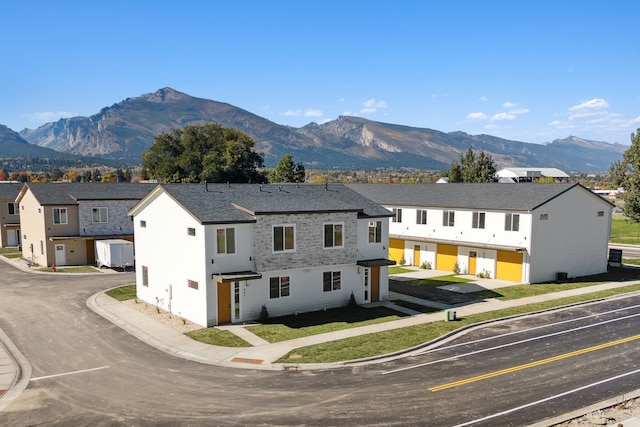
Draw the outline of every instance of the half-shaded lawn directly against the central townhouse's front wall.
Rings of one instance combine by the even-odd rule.
[[[358,326],[398,320],[407,315],[386,307],[344,307],[270,318],[248,330],[268,342],[279,342],[309,335],[335,332]]]

